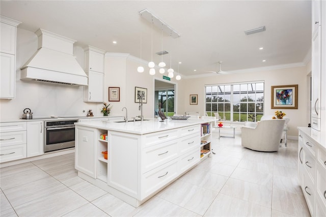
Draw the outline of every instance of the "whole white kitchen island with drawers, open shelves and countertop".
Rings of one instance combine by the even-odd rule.
[[[138,207],[211,154],[212,122],[75,123],[75,169],[79,177]]]

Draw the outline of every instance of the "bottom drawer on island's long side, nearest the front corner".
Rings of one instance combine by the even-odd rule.
[[[142,199],[154,193],[160,187],[163,187],[179,175],[177,160],[172,160],[167,164],[162,165],[154,170],[143,175]]]

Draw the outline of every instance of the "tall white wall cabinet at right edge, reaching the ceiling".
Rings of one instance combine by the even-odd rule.
[[[326,128],[326,2],[312,1],[311,126]]]

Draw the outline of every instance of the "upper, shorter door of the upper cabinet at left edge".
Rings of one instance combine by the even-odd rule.
[[[16,26],[1,22],[0,51],[15,55],[16,51]]]

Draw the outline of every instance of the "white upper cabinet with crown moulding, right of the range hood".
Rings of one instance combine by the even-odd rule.
[[[84,86],[85,102],[103,102],[104,95],[104,53],[92,46],[85,48],[85,72],[88,86]]]

